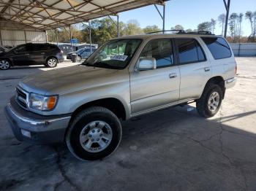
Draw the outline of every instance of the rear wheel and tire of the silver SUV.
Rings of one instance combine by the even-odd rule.
[[[222,88],[216,84],[208,84],[201,98],[196,101],[197,112],[202,117],[213,117],[222,104]]]

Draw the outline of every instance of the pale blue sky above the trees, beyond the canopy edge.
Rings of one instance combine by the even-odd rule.
[[[159,6],[162,11],[162,6]],[[230,0],[230,13],[244,13],[256,11],[256,0]],[[170,0],[165,6],[165,30],[180,24],[184,29],[196,29],[199,23],[217,20],[218,16],[225,13],[223,0]],[[140,27],[157,25],[162,28],[162,18],[154,5],[133,9],[119,13],[119,20],[127,23],[129,20],[138,20]],[[244,18],[242,23],[243,36],[249,36],[251,31],[249,20]],[[217,22],[215,34],[221,34],[222,27]]]

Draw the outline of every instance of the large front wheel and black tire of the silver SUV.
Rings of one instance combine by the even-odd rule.
[[[113,153],[121,141],[121,122],[110,110],[94,106],[80,112],[67,130],[69,151],[80,160],[99,160]]]

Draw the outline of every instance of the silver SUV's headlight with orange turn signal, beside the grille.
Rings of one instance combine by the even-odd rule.
[[[40,111],[48,111],[54,108],[57,102],[57,96],[44,96],[31,93],[29,96],[29,107]]]

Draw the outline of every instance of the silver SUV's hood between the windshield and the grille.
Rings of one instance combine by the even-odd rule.
[[[120,70],[78,65],[42,71],[24,78],[19,86],[29,93],[60,95],[113,82],[118,71]]]

